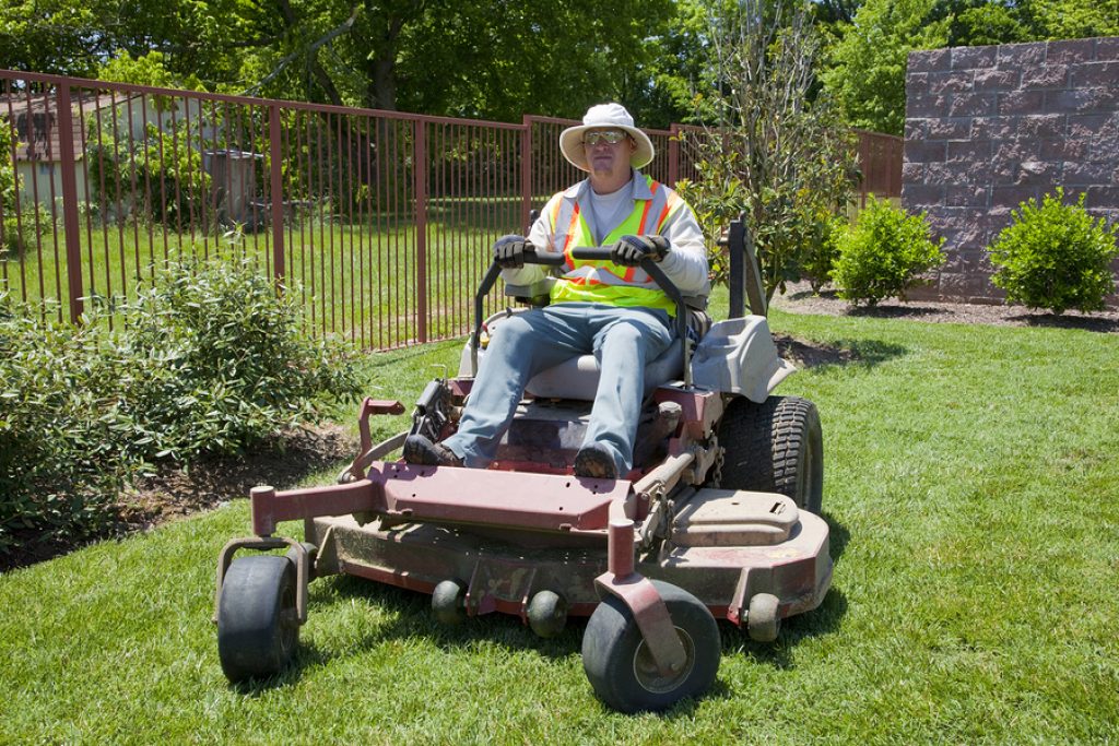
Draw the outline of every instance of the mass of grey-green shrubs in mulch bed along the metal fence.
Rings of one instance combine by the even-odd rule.
[[[358,389],[247,262],[175,265],[126,314],[110,333],[0,299],[0,553],[97,535],[144,464],[258,447]]]

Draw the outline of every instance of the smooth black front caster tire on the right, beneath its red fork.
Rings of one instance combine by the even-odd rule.
[[[599,604],[583,633],[586,678],[603,702],[622,712],[667,709],[706,691],[718,672],[722,643],[715,617],[687,591],[652,583],[668,605],[687,651],[687,663],[679,674],[665,678],[657,673],[632,612],[614,596],[608,595]]]

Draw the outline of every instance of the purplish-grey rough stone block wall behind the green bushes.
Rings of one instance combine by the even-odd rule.
[[[1000,302],[986,246],[1059,186],[1119,223],[1119,38],[914,51],[905,93],[902,205],[948,255],[911,299]]]

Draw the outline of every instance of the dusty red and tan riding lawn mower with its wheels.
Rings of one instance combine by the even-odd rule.
[[[747,248],[739,246],[753,270],[747,295],[764,311]],[[602,251],[576,249],[585,258]],[[684,299],[656,264],[643,268],[676,301],[686,339]],[[476,296],[464,356],[471,372],[482,301],[499,273],[492,265]],[[472,470],[384,461],[410,433],[452,433],[470,376],[432,381],[412,428],[377,444],[369,418],[404,407],[366,399],[361,453],[338,483],[254,489],[254,536],[219,555],[214,617],[227,678],[280,672],[307,620],[308,584],[346,573],[429,593],[446,623],[500,612],[552,636],[568,616],[590,616],[584,670],[615,709],[658,710],[702,693],[718,669],[716,617],[771,641],[782,618],[821,603],[831,578],[828,527],[818,516],[819,417],[806,399],[770,396],[791,367],[777,357],[763,315],[740,317],[715,324],[694,352],[678,346],[684,379],[649,397],[636,468],[624,479],[572,475],[585,402],[529,397],[495,463]],[[275,537],[280,522],[298,519],[304,541]],[[286,556],[234,558],[282,548]]]

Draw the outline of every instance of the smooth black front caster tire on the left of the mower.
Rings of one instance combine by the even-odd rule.
[[[299,644],[295,565],[286,557],[241,557],[222,584],[217,652],[231,682],[264,679],[288,665]]]

